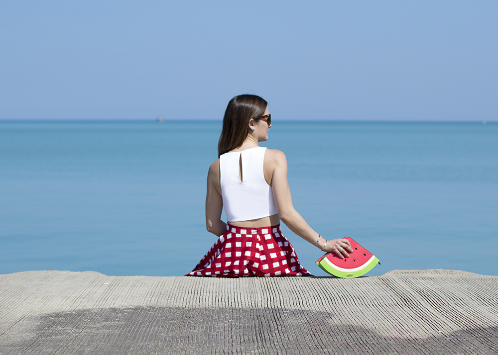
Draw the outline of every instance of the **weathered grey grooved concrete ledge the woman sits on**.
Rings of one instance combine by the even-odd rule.
[[[498,276],[6,274],[0,354],[498,354]]]

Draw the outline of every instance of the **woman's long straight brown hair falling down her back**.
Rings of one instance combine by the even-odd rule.
[[[244,143],[249,134],[250,119],[262,116],[267,105],[268,102],[256,95],[238,95],[230,100],[218,141],[218,158]]]

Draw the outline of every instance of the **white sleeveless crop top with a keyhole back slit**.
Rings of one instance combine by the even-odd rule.
[[[229,222],[249,221],[278,213],[271,186],[263,173],[265,147],[220,156],[223,207]],[[239,160],[242,158],[242,181]]]

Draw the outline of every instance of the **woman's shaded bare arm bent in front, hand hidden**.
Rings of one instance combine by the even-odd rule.
[[[227,230],[227,224],[221,220],[223,198],[220,186],[220,160],[209,167],[206,191],[206,229],[216,236]]]

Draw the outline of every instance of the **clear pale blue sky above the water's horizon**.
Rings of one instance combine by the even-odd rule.
[[[496,0],[4,0],[0,45],[0,119],[498,119]]]

